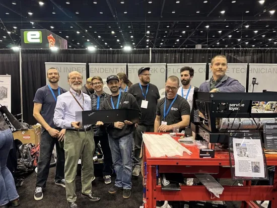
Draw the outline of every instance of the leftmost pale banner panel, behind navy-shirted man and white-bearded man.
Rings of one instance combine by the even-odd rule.
[[[73,71],[81,73],[83,76],[83,85],[86,84],[87,74],[86,74],[86,63],[57,63],[57,62],[45,62],[45,75],[46,84],[48,84],[47,71],[49,68],[54,67],[59,72],[59,82],[58,85],[66,90],[70,89],[67,82],[67,76]]]

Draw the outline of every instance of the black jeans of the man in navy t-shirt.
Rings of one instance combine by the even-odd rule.
[[[61,179],[64,179],[64,150],[60,148],[58,139],[53,138],[44,129],[41,133],[36,186],[46,186],[54,145],[56,145],[57,152],[55,182],[60,182]]]

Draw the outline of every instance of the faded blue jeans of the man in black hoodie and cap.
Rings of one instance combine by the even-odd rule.
[[[132,141],[133,133],[129,133],[119,139],[109,136],[109,144],[112,153],[113,167],[116,173],[115,185],[124,189],[131,189],[132,183]]]

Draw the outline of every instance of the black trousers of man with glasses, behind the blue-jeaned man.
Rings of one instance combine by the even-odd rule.
[[[101,149],[104,155],[104,164],[103,164],[103,176],[111,175],[112,173],[112,155],[111,150],[109,146],[109,139],[108,135],[102,135],[102,136],[94,136],[94,143],[95,146],[100,141]]]

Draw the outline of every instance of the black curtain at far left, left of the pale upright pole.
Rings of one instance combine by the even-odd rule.
[[[0,49],[0,75],[11,75],[12,85],[12,114],[20,114],[20,73],[19,73],[19,52]],[[1,101],[0,101],[1,104]],[[17,117],[21,118],[21,117]]]

